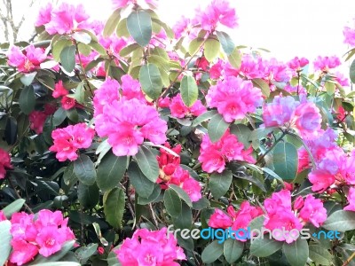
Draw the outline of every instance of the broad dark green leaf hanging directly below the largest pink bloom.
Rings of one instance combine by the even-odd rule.
[[[115,156],[114,153],[106,153],[98,167],[96,182],[103,192],[113,189],[120,183],[127,168],[127,156]]]

